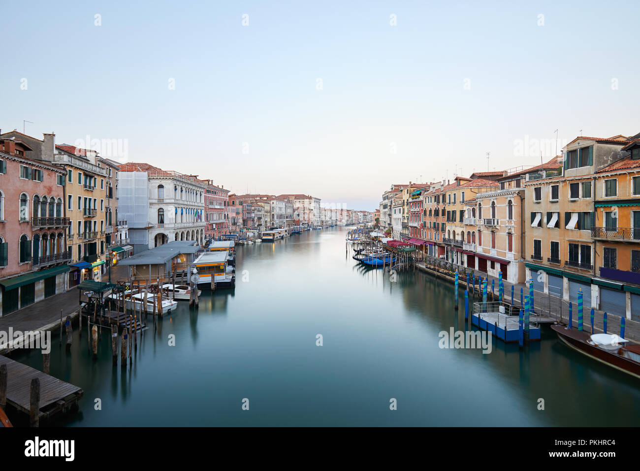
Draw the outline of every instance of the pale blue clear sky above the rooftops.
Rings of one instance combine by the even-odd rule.
[[[640,132],[639,13],[637,1],[4,3],[0,129],[240,194],[375,210],[392,183]]]

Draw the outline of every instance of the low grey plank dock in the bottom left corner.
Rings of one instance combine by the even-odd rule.
[[[0,356],[1,365],[6,365],[7,368],[7,404],[27,415],[31,410],[31,380],[36,378],[40,381],[39,418],[41,420],[48,420],[52,415],[77,407],[77,402],[83,397],[84,392],[81,388],[6,356]]]

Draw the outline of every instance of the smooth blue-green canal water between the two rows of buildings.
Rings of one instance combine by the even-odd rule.
[[[74,333],[70,353],[54,342],[51,374],[84,390],[79,412],[56,425],[640,423],[637,380],[572,351],[548,328],[522,351],[499,340],[488,354],[441,349],[441,331],[465,329],[452,285],[417,271],[383,283],[382,270],[346,252],[344,228],[239,247],[236,276],[235,290],[204,292],[197,311],[180,302],[156,332],[145,331],[127,370],[112,367],[106,329],[97,361],[86,333]],[[14,358],[42,368],[39,352]]]

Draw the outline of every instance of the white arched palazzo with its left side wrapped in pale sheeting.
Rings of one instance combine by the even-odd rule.
[[[118,205],[137,254],[170,241],[204,244],[207,184],[193,175],[148,163],[125,163],[118,173]]]

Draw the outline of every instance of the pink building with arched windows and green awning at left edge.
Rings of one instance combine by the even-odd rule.
[[[20,133],[0,137],[0,316],[68,286],[66,172],[42,160],[39,142],[32,147]]]

